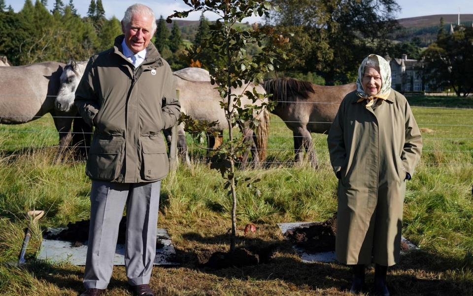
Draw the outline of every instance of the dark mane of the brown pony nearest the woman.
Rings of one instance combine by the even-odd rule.
[[[265,81],[263,84],[267,93],[272,93],[271,101],[276,101],[282,106],[286,105],[289,98],[300,96],[303,99],[309,97],[309,92],[314,93],[312,84],[293,78],[276,78]]]

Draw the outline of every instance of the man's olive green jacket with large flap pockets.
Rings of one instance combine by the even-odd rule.
[[[90,58],[75,92],[80,115],[95,127],[86,174],[120,183],[157,181],[169,171],[161,131],[180,115],[174,78],[152,43],[135,69],[122,54],[123,38]]]

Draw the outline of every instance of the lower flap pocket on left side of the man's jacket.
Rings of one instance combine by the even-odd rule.
[[[109,181],[117,178],[122,146],[122,139],[96,139],[89,150],[87,176]]]

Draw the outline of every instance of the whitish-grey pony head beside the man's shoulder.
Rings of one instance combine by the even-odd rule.
[[[62,112],[68,112],[74,105],[75,90],[84,74],[87,62],[75,62],[70,60],[64,67],[59,78],[60,86],[55,101],[55,108]]]

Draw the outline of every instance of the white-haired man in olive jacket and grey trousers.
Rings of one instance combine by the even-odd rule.
[[[150,43],[153,11],[128,7],[122,30],[112,48],[89,60],[75,93],[81,116],[95,127],[86,166],[92,189],[82,296],[107,288],[125,205],[128,283],[135,295],[153,295],[160,180],[169,169],[161,132],[176,123],[180,105],[169,64]]]

